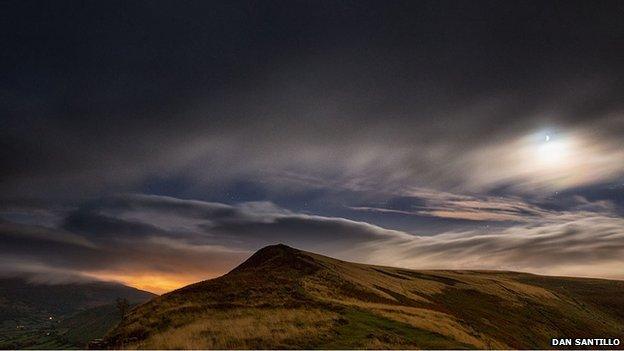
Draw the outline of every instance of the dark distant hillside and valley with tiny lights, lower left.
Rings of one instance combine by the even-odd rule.
[[[121,320],[117,298],[138,304],[154,296],[109,282],[45,285],[0,279],[0,348],[84,348]]]

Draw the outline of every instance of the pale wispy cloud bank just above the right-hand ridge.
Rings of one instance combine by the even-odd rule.
[[[589,213],[498,233],[444,233],[384,246],[369,245],[369,259],[413,268],[502,269],[551,275],[624,279],[624,220]]]

